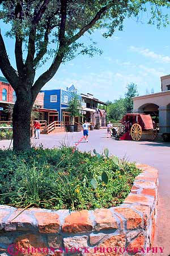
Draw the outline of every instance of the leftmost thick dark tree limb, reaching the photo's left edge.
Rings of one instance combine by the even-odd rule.
[[[3,75],[6,77],[11,86],[16,89],[19,85],[19,77],[16,74],[16,70],[11,66],[10,61],[7,56],[5,43],[3,41],[3,37],[1,35],[0,29],[0,69]]]

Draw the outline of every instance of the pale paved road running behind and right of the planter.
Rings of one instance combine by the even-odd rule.
[[[82,132],[57,133],[41,135],[39,140],[32,139],[33,145],[43,144],[46,148],[67,145],[73,146],[82,137]],[[7,147],[10,141],[0,141],[0,148]],[[108,148],[111,154],[126,157],[130,161],[146,163],[159,170],[159,211],[156,227],[155,246],[164,247],[163,256],[170,254],[170,143],[150,141],[115,141],[106,138],[106,130],[100,129],[90,132],[89,142],[80,142],[79,150],[103,152]],[[156,254],[158,255],[158,254]]]

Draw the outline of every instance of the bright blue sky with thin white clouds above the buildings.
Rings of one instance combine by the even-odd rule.
[[[0,23],[2,25],[2,23]],[[5,26],[1,26],[2,33]],[[91,37],[103,51],[101,56],[78,56],[60,66],[56,75],[43,89],[66,88],[73,83],[79,93],[92,93],[100,100],[114,100],[124,96],[126,85],[137,83],[139,95],[146,90],[160,91],[160,76],[170,73],[170,26],[160,28],[128,19],[123,31],[116,31],[104,39],[104,30]],[[83,37],[91,43],[88,35]],[[15,65],[14,43],[5,39],[12,65]],[[37,76],[48,68],[37,70]],[[2,73],[1,73],[2,75]]]

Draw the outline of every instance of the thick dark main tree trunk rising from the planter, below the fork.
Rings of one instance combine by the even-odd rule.
[[[31,91],[19,91],[13,110],[13,149],[24,151],[31,149],[30,123],[33,100]]]

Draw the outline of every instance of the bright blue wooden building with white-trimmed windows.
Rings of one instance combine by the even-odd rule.
[[[52,123],[53,121],[70,121],[70,115],[69,112],[67,112],[67,108],[73,93],[77,94],[75,86],[70,85],[66,90],[43,90],[42,92],[44,93],[44,108],[57,111],[55,114],[49,114],[49,123]]]

